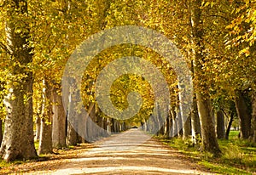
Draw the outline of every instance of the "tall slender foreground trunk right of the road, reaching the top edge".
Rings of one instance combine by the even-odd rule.
[[[203,19],[201,16],[201,0],[191,1],[191,20],[192,25],[192,40],[195,45],[195,84],[197,88],[196,99],[199,117],[201,121],[201,137],[202,150],[212,152],[214,155],[219,155],[221,151],[218,147],[218,140],[215,134],[215,127],[212,121],[211,100],[209,93],[209,85],[207,85],[207,75],[204,72],[203,65],[205,61],[204,43],[203,43]]]

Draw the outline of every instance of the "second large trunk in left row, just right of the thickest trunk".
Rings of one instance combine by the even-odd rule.
[[[38,154],[52,153],[51,121],[52,121],[52,90],[49,83],[43,82],[43,105],[41,118],[41,132],[39,139]]]

